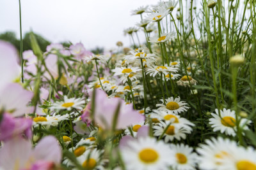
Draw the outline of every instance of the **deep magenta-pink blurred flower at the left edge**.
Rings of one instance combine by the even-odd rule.
[[[13,118],[12,115],[4,113],[0,122],[0,141],[22,136],[22,134],[25,134],[27,138],[31,138],[32,123],[33,120],[30,118]]]

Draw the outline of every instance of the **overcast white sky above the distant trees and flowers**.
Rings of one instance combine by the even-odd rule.
[[[124,29],[140,21],[131,10],[157,0],[21,0],[22,32],[34,32],[54,43],[82,42],[87,49],[129,46]],[[19,0],[0,0],[0,33],[14,31],[19,37]],[[141,32],[141,41],[144,34]]]

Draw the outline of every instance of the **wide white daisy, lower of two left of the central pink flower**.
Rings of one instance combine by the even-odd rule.
[[[56,115],[54,113],[52,116],[47,115],[47,117],[35,117],[33,118],[33,127],[38,127],[38,125],[45,125],[47,129],[51,126],[57,126],[62,120],[68,120],[69,115]]]

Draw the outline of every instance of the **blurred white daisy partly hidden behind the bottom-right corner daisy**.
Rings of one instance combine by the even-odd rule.
[[[199,144],[200,148],[196,152],[200,154],[198,157],[198,165],[200,169],[212,170],[220,169],[222,160],[232,157],[231,151],[237,150],[235,141],[223,138],[206,139],[206,144]]]

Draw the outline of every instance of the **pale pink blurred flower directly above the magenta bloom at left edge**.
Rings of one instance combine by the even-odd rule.
[[[23,89],[18,83],[10,83],[0,91],[0,110],[19,117],[24,113],[31,113],[32,107],[27,106],[33,97],[33,92]]]

